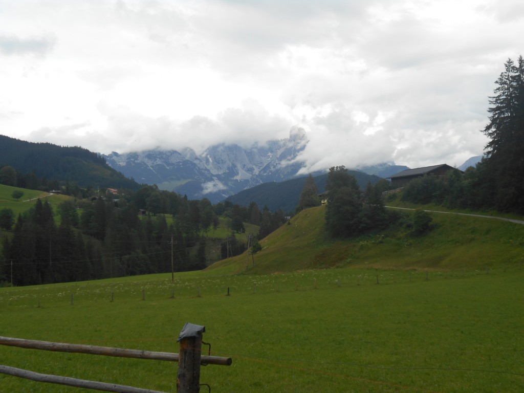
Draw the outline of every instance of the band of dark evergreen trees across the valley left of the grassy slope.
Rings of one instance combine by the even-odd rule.
[[[154,185],[125,198],[64,201],[57,210],[39,199],[18,217],[8,209],[0,211],[0,226],[12,232],[3,238],[0,281],[13,279],[23,286],[169,272],[172,261],[175,271],[199,270],[210,258],[219,214],[231,224],[235,217],[255,225],[267,221],[260,226],[266,231],[283,223],[281,212],[260,212],[256,203],[249,208],[230,202],[212,205],[208,199],[190,201]],[[172,216],[169,224],[166,215]],[[216,240],[214,259],[245,251],[246,244],[235,236],[242,228],[232,226],[226,239]]]

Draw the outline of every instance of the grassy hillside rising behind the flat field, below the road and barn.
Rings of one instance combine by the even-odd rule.
[[[424,236],[395,230],[334,241],[324,234],[324,211],[323,206],[307,209],[293,217],[290,225],[263,239],[260,243],[264,249],[254,256],[254,266],[249,259],[248,271],[268,273],[328,267],[460,270],[522,263],[524,225],[431,213],[432,231]],[[246,270],[247,259],[244,254],[221,261],[208,270],[242,272]]]

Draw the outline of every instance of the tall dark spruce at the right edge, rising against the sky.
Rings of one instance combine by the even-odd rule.
[[[495,208],[524,213],[524,59],[508,59],[489,97],[489,123],[483,133],[487,178]]]

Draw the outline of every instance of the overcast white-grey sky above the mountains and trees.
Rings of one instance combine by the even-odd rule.
[[[461,165],[521,0],[0,0],[0,134],[108,154],[303,127],[311,170]]]

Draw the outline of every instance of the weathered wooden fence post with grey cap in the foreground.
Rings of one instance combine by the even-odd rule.
[[[198,393],[200,390],[200,358],[205,326],[186,323],[180,332],[177,392]]]

